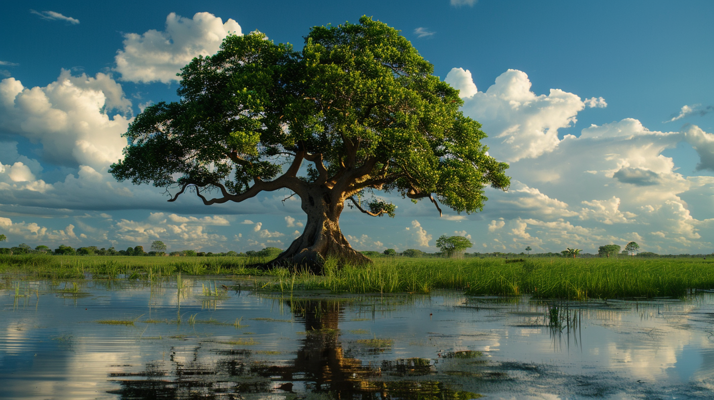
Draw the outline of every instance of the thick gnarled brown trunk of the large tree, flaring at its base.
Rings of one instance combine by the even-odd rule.
[[[345,206],[341,194],[316,187],[311,188],[301,201],[303,211],[308,214],[303,234],[266,266],[307,268],[313,274],[322,274],[328,257],[350,264],[371,264],[370,259],[352,249],[340,230],[340,214]]]

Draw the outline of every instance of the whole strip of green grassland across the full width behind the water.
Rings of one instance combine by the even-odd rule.
[[[371,266],[338,267],[325,275],[260,271],[248,257],[0,256],[0,273],[49,279],[156,279],[174,274],[270,275],[256,289],[348,293],[427,293],[455,289],[473,295],[614,299],[685,296],[714,289],[714,262],[702,259],[375,259]]]

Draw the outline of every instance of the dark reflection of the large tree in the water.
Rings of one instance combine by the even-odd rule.
[[[379,366],[344,356],[338,321],[343,306],[336,300],[288,300],[305,323],[306,337],[290,364],[253,360],[248,350],[205,349],[198,344],[163,362],[146,364],[139,373],[111,374],[121,385],[111,393],[121,399],[243,399],[261,394],[286,399],[324,394],[332,399],[473,399],[480,397],[436,381],[428,359],[383,361]],[[201,353],[208,352],[208,356]],[[186,357],[188,353],[188,357]],[[211,361],[204,361],[205,359]]]

